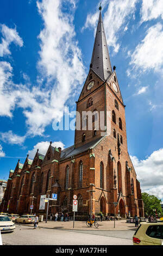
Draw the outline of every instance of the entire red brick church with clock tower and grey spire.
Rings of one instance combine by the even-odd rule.
[[[90,70],[76,102],[74,145],[61,149],[49,143],[46,155],[38,149],[33,160],[28,155],[23,164],[18,160],[15,170],[10,170],[0,211],[27,214],[33,201],[33,212],[46,215],[44,198],[56,193],[58,199],[49,202],[49,213],[71,214],[76,194],[76,215],[90,214],[91,202],[96,215],[100,211],[104,215],[116,211],[122,217],[144,215],[140,182],[127,149],[125,106],[99,9]],[[92,129],[87,113],[92,113]],[[104,128],[99,127],[102,121]]]

